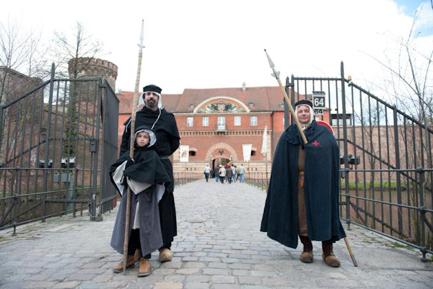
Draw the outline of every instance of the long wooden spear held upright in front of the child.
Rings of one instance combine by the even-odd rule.
[[[143,57],[143,48],[144,48],[143,39],[144,39],[144,20],[142,20],[142,30],[140,32],[140,44],[138,44],[137,77],[135,78],[134,98],[133,98],[132,113],[131,113],[131,138],[129,139],[129,158],[131,159],[134,158],[135,116],[137,114],[138,86],[140,85],[140,73],[142,71],[142,57]],[[123,243],[123,275],[126,275],[126,260],[128,259],[130,214],[131,214],[131,188],[128,186],[126,192],[125,238]]]

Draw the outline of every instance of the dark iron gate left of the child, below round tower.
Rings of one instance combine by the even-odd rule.
[[[101,172],[117,156],[117,116],[107,81],[56,79],[54,65],[49,81],[2,105],[0,229],[67,213],[96,220],[113,208]]]

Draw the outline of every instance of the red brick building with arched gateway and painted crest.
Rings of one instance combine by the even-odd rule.
[[[133,92],[117,96],[120,143],[122,124],[131,115]],[[181,161],[180,149],[173,154],[175,172],[201,173],[206,164],[212,169],[232,161],[243,164],[247,171],[270,174],[276,144],[285,128],[280,87],[184,89],[182,94],[163,94],[162,105],[175,115],[181,146],[188,146],[187,162]],[[329,120],[329,111],[324,113]],[[265,126],[267,153],[262,154]],[[244,160],[243,144],[252,144],[249,162]]]

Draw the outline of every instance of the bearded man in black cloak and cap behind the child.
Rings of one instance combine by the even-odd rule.
[[[159,248],[159,261],[170,261],[172,254],[170,252],[171,242],[177,235],[176,208],[173,191],[175,189],[173,166],[168,159],[179,147],[179,130],[175,116],[166,109],[161,107],[162,89],[156,85],[146,85],[143,87],[142,100],[144,107],[137,111],[135,118],[135,127],[150,127],[157,135],[155,151],[161,160],[166,172],[170,176],[171,182],[166,183],[164,195],[159,201],[159,220],[161,222],[163,246]],[[122,135],[120,144],[120,155],[129,150],[129,141],[131,136],[131,118],[124,122],[125,130]],[[144,256],[150,258],[151,256]],[[137,259],[137,258],[135,258]]]

